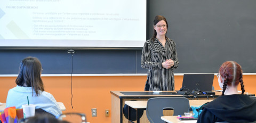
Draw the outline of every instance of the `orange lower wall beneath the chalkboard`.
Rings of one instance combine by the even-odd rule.
[[[6,102],[7,92],[16,86],[16,77],[0,77],[0,102]],[[71,77],[42,77],[45,91],[51,93],[57,102],[63,102],[66,111],[85,113],[89,122],[111,122],[110,91],[143,91],[146,76],[99,76],[73,77],[73,107],[71,108]],[[182,85],[183,76],[175,76],[175,89]],[[255,94],[256,75],[244,75],[245,91]],[[213,86],[220,89],[217,77]],[[97,117],[91,116],[91,109],[97,108]],[[109,109],[109,117],[105,116]]]

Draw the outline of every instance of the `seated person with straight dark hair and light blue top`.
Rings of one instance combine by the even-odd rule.
[[[23,104],[35,104],[36,109],[44,110],[58,116],[60,107],[52,94],[44,91],[41,79],[41,62],[34,57],[27,57],[20,63],[19,75],[16,79],[17,86],[10,89],[6,99],[6,108],[15,106],[21,109]]]

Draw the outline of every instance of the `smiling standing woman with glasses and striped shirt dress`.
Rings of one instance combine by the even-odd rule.
[[[179,64],[175,43],[166,37],[168,23],[162,15],[155,17],[153,26],[153,37],[141,55],[141,67],[148,69],[145,91],[174,91],[173,69]]]

